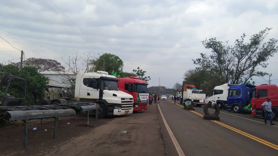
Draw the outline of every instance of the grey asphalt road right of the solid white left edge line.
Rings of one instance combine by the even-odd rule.
[[[203,108],[183,110],[170,101],[159,104],[162,114],[186,156],[261,156],[278,154],[278,127],[263,121],[220,113],[219,121],[202,118]]]

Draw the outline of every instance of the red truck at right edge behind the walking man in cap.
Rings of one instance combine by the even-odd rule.
[[[252,105],[251,112],[254,116],[264,116],[264,111],[261,104],[266,101],[266,98],[271,99],[272,104],[272,119],[275,120],[278,115],[278,86],[262,84],[252,89]]]

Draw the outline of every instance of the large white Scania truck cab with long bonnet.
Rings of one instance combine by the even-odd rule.
[[[128,115],[133,112],[133,97],[118,88],[119,79],[106,71],[78,74],[74,97],[80,102],[97,103],[100,117]]]

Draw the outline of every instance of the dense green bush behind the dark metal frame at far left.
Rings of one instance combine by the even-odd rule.
[[[36,105],[37,100],[44,100],[44,92],[47,88],[47,78],[38,72],[33,66],[20,68],[16,65],[2,65],[0,71],[14,76],[25,78],[27,81],[25,105]],[[0,77],[2,80],[3,76]],[[9,94],[17,98],[24,95],[24,81],[13,79],[9,87]]]

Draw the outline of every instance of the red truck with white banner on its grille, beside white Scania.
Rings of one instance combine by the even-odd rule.
[[[147,93],[148,83],[136,76],[118,79],[119,90],[133,96],[133,111],[147,110],[149,101],[149,94]]]

